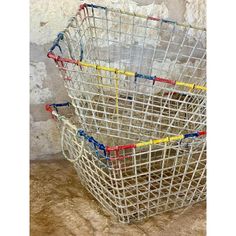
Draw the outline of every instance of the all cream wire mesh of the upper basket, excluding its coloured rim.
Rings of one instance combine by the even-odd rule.
[[[206,85],[204,30],[86,7],[64,35],[63,56],[83,54],[97,66]],[[83,129],[108,145],[205,127],[205,91],[71,63],[59,69]]]

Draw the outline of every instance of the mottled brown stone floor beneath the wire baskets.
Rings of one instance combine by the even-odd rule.
[[[69,162],[32,161],[30,235],[202,236],[206,235],[206,205],[199,203],[143,222],[122,224],[82,187]]]

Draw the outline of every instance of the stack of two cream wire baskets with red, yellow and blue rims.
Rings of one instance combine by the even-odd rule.
[[[74,126],[57,104],[47,107],[63,153],[121,222],[205,199],[205,37],[168,19],[82,4],[48,52],[79,119]]]

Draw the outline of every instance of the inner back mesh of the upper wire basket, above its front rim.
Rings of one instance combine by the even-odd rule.
[[[151,19],[109,8],[86,7],[66,28],[65,46],[73,51],[72,58],[79,58],[78,42],[83,41],[84,58],[95,64],[102,62],[108,67],[161,77],[175,74],[182,81],[194,79],[204,83],[206,31]]]

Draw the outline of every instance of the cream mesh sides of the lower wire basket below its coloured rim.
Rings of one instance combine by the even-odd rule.
[[[205,138],[133,148],[129,158],[111,161],[82,140],[69,120],[60,117],[59,125],[65,157],[119,221],[130,223],[205,200]]]

